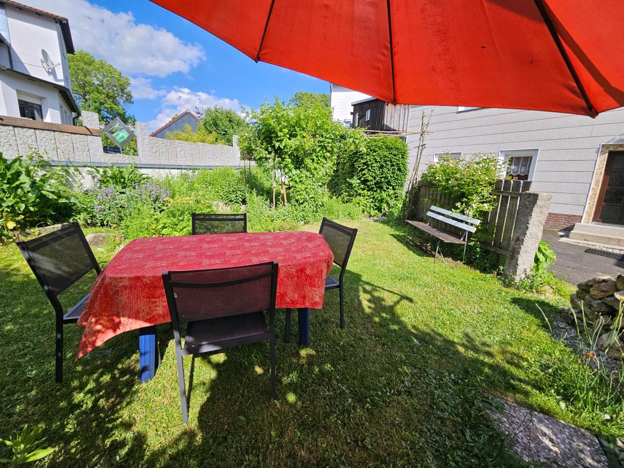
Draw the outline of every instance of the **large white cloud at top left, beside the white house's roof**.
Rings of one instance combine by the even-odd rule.
[[[66,16],[76,49],[110,62],[124,74],[165,77],[188,73],[206,58],[199,44],[184,42],[162,27],[137,24],[132,12],[114,13],[87,0],[26,3]]]

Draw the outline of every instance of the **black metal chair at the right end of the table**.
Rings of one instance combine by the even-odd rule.
[[[344,271],[347,268],[349,261],[349,255],[351,255],[351,248],[355,242],[355,236],[358,234],[356,228],[349,228],[333,221],[323,218],[321,222],[321,229],[318,232],[322,235],[325,241],[328,243],[329,248],[334,253],[334,263],[340,267],[340,276],[338,280],[333,276],[325,278],[325,291],[340,290],[340,328],[344,328]],[[290,319],[291,310],[286,310],[286,331],[284,335],[284,341],[288,343],[290,341]]]

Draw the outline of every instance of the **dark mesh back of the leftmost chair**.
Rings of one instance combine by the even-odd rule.
[[[46,293],[58,295],[82,276],[100,267],[78,223],[49,234],[17,242],[32,272]]]

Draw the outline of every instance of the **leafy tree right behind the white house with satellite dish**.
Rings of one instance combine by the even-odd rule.
[[[130,79],[108,62],[95,59],[85,51],[69,56],[72,93],[80,110],[97,112],[102,124],[115,117],[133,125],[134,115],[127,106],[132,104]]]

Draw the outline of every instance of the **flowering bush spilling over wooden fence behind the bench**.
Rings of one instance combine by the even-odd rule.
[[[494,208],[494,184],[502,176],[504,163],[493,153],[478,153],[470,158],[442,156],[430,162],[421,180],[456,202],[456,211],[478,217]]]

